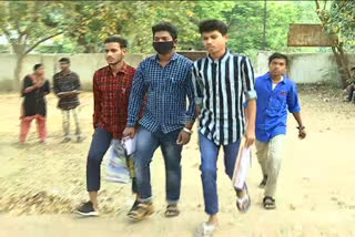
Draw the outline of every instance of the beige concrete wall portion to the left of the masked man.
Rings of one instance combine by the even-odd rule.
[[[106,65],[106,61],[102,53],[91,54],[29,54],[26,56],[21,70],[22,80],[27,74],[32,72],[36,63],[42,63],[45,69],[45,75],[52,82],[52,76],[59,71],[58,61],[69,56],[71,60],[71,70],[80,75],[81,83],[84,90],[91,89],[93,73]],[[144,54],[129,54],[125,56],[125,62],[136,68],[145,58]],[[0,54],[0,91],[9,91],[13,89],[13,71],[16,68],[14,54]]]

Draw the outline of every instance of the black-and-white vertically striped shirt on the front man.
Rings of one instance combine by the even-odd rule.
[[[250,59],[226,53],[194,62],[192,81],[195,103],[201,106],[202,135],[216,145],[239,141],[245,133],[243,102],[256,99],[254,71]]]

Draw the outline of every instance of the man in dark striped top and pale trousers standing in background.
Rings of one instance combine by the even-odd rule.
[[[62,58],[59,60],[61,71],[53,75],[53,91],[59,97],[58,109],[62,111],[63,117],[63,131],[64,138],[63,143],[71,140],[70,137],[70,113],[72,114],[75,122],[75,136],[77,142],[82,142],[83,136],[81,135],[80,123],[78,117],[79,93],[80,93],[80,80],[75,72],[70,70],[70,59]]]

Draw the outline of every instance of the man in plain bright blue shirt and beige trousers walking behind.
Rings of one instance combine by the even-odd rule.
[[[288,59],[281,53],[268,58],[270,71],[255,80],[256,155],[263,172],[261,188],[265,188],[263,206],[274,209],[278,171],[284,147],[287,111],[298,123],[298,137],[306,137],[301,118],[301,105],[296,83],[285,73]]]

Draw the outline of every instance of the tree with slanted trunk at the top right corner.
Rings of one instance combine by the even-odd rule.
[[[327,6],[329,2],[331,7]],[[345,89],[351,79],[345,45],[354,44],[355,2],[349,0],[325,0],[322,6],[320,0],[315,0],[315,3],[323,29],[335,39],[332,51],[341,75],[342,86]]]

